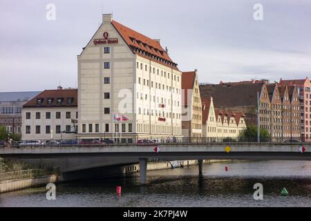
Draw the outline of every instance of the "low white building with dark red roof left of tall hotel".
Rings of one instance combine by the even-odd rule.
[[[44,90],[23,105],[22,140],[75,139],[77,89]]]

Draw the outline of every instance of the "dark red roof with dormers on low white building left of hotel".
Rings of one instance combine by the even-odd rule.
[[[41,104],[38,104],[38,99],[41,99]],[[48,104],[48,99],[51,103]],[[57,104],[57,99],[62,99],[61,104]],[[72,99],[71,103],[67,103],[67,99]],[[30,99],[29,102],[23,105],[23,108],[40,108],[40,107],[76,107],[77,106],[77,89],[57,89],[44,90],[36,97]]]

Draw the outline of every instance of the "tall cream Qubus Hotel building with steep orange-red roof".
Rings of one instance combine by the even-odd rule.
[[[182,135],[182,73],[160,40],[103,15],[77,63],[79,138],[133,142]]]

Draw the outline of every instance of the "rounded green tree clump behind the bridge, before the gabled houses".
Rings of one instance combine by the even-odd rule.
[[[270,140],[270,134],[265,128],[260,128],[261,142],[267,142]],[[256,142],[257,140],[257,126],[247,125],[246,129],[238,136],[240,141]]]

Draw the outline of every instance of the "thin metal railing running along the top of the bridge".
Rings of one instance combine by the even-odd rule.
[[[189,145],[189,144],[258,144],[256,137],[145,137],[88,140],[31,140],[14,142],[11,145],[0,144],[0,148],[29,147],[77,147],[77,146],[151,146],[151,145]],[[261,138],[260,144],[304,144],[300,137]]]

